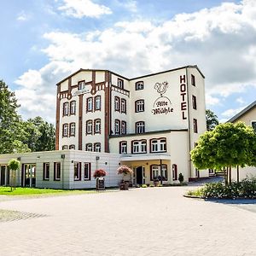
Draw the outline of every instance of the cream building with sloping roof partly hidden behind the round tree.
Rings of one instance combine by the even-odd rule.
[[[244,122],[246,125],[252,126],[256,132],[256,101],[247,106],[247,108],[242,109],[240,113],[237,113],[228,122]],[[237,180],[237,175],[239,176],[240,180],[247,176],[256,177],[256,166],[246,166],[244,168],[240,168],[238,173],[236,168],[232,168],[232,179]]]

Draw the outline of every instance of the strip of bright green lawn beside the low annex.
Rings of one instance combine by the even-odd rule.
[[[41,195],[41,194],[92,194],[96,193],[96,190],[75,189],[32,189],[32,188],[16,188],[11,191],[10,187],[0,187],[0,195]]]

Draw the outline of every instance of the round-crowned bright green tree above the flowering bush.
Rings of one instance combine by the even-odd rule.
[[[220,124],[213,131],[206,131],[190,154],[196,168],[223,169],[225,173],[232,166],[256,165],[255,152],[256,134],[253,128],[239,122]],[[227,183],[227,176],[225,181]]]

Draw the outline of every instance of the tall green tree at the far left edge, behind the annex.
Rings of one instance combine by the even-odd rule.
[[[20,129],[21,119],[17,113],[20,106],[15,93],[9,90],[3,80],[0,80],[0,106],[0,154],[19,152],[19,148],[24,149],[24,134]],[[17,144],[20,146],[17,147]]]

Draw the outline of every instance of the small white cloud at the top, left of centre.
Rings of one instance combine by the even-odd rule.
[[[63,0],[63,2],[64,5],[61,5],[59,10],[74,18],[99,18],[101,15],[112,14],[107,6],[93,3],[91,0]]]

